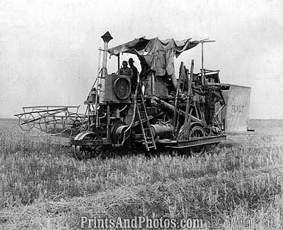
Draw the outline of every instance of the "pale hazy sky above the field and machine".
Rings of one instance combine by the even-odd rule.
[[[0,19],[0,117],[37,105],[83,112],[100,36],[110,31],[110,47],[142,36],[216,40],[205,44],[205,68],[220,70],[223,83],[252,87],[250,119],[283,119],[282,1],[1,0]],[[199,70],[200,45],[176,69],[191,59]],[[108,66],[117,71],[114,57]]]

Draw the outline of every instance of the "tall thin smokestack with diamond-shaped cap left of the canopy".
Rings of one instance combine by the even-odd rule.
[[[103,48],[103,62],[102,62],[102,77],[100,79],[100,102],[103,102],[105,99],[105,76],[107,75],[107,52],[108,52],[108,43],[112,40],[112,35],[107,31],[104,35],[101,36],[104,41]]]

